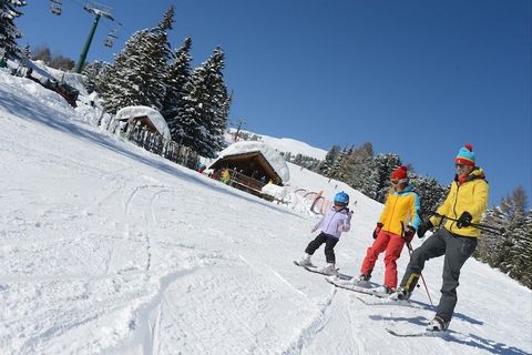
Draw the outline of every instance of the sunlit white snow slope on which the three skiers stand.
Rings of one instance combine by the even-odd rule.
[[[385,327],[420,331],[433,316],[427,295],[366,305],[295,266],[316,217],[116,140],[32,81],[0,70],[0,83],[1,354],[532,352],[531,291],[498,271],[467,262],[456,333],[393,337]],[[290,175],[357,200],[336,247],[356,274],[380,205],[306,170]],[[432,300],[441,270],[433,260],[424,271]],[[380,261],[376,282],[382,271]]]

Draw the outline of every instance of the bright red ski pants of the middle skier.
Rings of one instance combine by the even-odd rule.
[[[368,247],[366,257],[362,262],[360,272],[366,275],[371,275],[375,263],[379,257],[379,254],[386,251],[385,254],[385,285],[390,288],[397,287],[397,260],[401,256],[402,247],[405,246],[405,240],[397,234],[380,231],[379,235],[375,240],[374,244]]]

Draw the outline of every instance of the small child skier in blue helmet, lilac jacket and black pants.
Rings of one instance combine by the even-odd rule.
[[[308,243],[304,256],[297,261],[301,266],[314,266],[310,262],[310,256],[316,250],[325,243],[325,257],[327,265],[321,267],[319,272],[328,275],[336,274],[335,267],[335,245],[338,243],[341,232],[348,232],[351,227],[352,212],[349,211],[349,195],[345,192],[338,192],[335,195],[334,205],[327,211],[325,216],[313,229],[313,233],[318,229],[320,233],[314,241]]]

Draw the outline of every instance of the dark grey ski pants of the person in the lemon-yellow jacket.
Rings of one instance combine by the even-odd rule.
[[[419,276],[416,277],[416,275],[421,274],[426,261],[444,255],[443,284],[441,285],[441,298],[438,304],[437,315],[446,322],[451,322],[458,300],[457,287],[459,285],[460,268],[462,268],[469,256],[473,254],[477,243],[475,237],[452,234],[441,227],[412,252],[401,281],[401,286],[406,287],[409,281],[417,283]],[[408,288],[413,290],[413,285],[409,285]]]

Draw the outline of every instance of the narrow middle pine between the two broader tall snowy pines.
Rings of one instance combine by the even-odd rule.
[[[183,110],[183,98],[186,95],[185,84],[191,79],[191,48],[192,38],[187,37],[183,45],[174,53],[174,60],[168,68],[166,78],[166,95],[163,101],[162,114],[168,123],[170,132],[175,136],[174,132],[178,130],[178,114]]]

